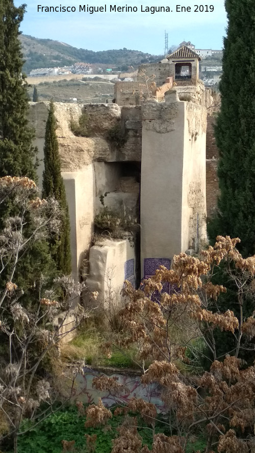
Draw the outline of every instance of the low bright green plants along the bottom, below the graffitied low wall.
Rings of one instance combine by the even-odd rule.
[[[131,416],[137,414],[130,414]],[[156,422],[156,433],[164,433],[170,436],[170,432],[160,422],[159,416]],[[75,453],[88,453],[86,448],[85,434],[96,434],[95,453],[110,453],[112,450],[112,440],[117,437],[117,428],[123,421],[123,416],[113,415],[109,421],[109,428],[98,426],[97,428],[85,428],[86,416],[78,413],[77,407],[68,405],[55,414],[43,420],[37,427],[33,428],[30,420],[24,420],[22,429],[32,428],[32,431],[20,436],[18,440],[19,453],[61,453],[62,440],[75,441]],[[142,437],[142,443],[151,448],[151,431],[146,429],[144,421],[138,416],[138,433]],[[176,434],[176,433],[173,433]],[[206,442],[201,435],[193,436],[188,443],[186,453],[194,453],[198,449],[201,453],[205,451]]]

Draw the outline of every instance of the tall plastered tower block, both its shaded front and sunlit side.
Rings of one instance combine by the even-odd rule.
[[[145,102],[142,115],[143,270],[145,258],[172,259],[192,247],[197,231],[197,243],[205,241],[207,120],[206,108],[179,101],[174,90],[165,103]]]

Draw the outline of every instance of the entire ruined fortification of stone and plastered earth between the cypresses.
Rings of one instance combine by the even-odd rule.
[[[107,303],[107,281],[120,292],[124,279],[140,283],[174,254],[198,250],[206,241],[206,130],[210,93],[200,81],[172,86],[170,65],[142,65],[155,73],[154,96],[136,105],[140,82],[125,82],[127,105],[55,103],[57,137],[71,226],[72,275],[86,279],[91,293]],[[140,70],[140,69],[139,69]],[[150,72],[149,72],[150,71]],[[138,72],[139,74],[139,72]],[[129,85],[131,84],[131,85]],[[122,83],[116,84],[116,90]],[[117,92],[116,91],[116,92]],[[158,92],[158,96],[157,96]],[[121,101],[122,99],[122,101]],[[31,103],[30,121],[43,159],[48,102]],[[86,114],[88,137],[70,128]],[[41,184],[42,166],[39,169]],[[95,216],[107,209],[131,213],[140,239],[96,237]],[[140,242],[139,242],[140,241]],[[152,272],[152,271],[151,271]],[[136,283],[135,283],[136,282]]]

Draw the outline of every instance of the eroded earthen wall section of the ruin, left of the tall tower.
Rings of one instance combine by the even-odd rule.
[[[31,102],[30,121],[36,131],[35,144],[40,159],[39,184],[42,183],[43,146],[48,102]],[[76,137],[70,129],[70,121],[78,121],[82,113],[88,116],[90,137]],[[113,207],[124,201],[127,206],[136,206],[139,190],[127,192],[121,184],[112,187],[116,167],[108,163],[141,161],[141,108],[123,108],[117,104],[69,104],[55,103],[57,136],[62,162],[71,227],[72,275],[80,278],[80,267],[84,256],[88,256],[94,217],[100,207],[99,196],[109,195]],[[125,143],[118,147],[108,138],[108,131],[121,125]],[[96,165],[100,164],[100,165]],[[108,165],[108,166],[107,166]],[[123,164],[124,165],[124,164]],[[112,176],[111,176],[111,172]],[[119,174],[123,170],[119,170]],[[125,175],[124,175],[125,176]],[[98,189],[98,180],[105,181]],[[109,185],[109,183],[111,184]],[[122,181],[122,185],[123,185]],[[133,183],[136,187],[136,181]],[[102,206],[101,206],[102,207]],[[122,271],[121,271],[122,272]],[[124,275],[124,270],[123,270]]]

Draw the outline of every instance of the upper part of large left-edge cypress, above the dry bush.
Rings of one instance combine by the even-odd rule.
[[[22,75],[19,25],[25,5],[0,2],[0,177],[28,176],[36,180],[33,132],[28,125],[28,92]]]

